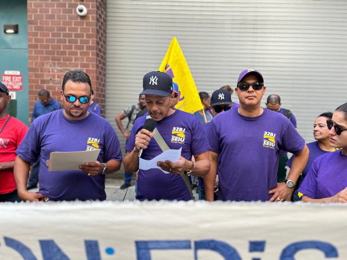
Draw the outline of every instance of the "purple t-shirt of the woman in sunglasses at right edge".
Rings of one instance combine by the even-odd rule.
[[[347,156],[342,150],[317,157],[298,192],[311,199],[329,198],[347,187]]]

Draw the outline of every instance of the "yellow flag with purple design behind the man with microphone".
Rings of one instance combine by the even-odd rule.
[[[193,77],[176,37],[171,41],[159,71],[169,74],[173,82],[178,84],[179,96],[175,108],[188,113],[203,109]]]

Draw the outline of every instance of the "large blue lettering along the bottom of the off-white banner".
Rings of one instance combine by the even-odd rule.
[[[4,237],[5,245],[17,251],[24,260],[36,260],[36,257],[23,243],[18,240]],[[69,260],[68,256],[58,247],[53,240],[39,240],[43,260]],[[193,241],[194,260],[198,260],[197,252],[199,250],[212,250],[219,253],[225,260],[241,260],[237,250],[229,244],[218,240],[198,240]],[[259,253],[265,251],[266,241],[250,241],[249,252],[256,253],[253,260],[261,260]],[[87,260],[101,260],[99,243],[97,240],[84,240],[85,253]],[[137,260],[152,260],[151,250],[192,250],[192,241],[190,240],[148,240],[135,241]],[[294,255],[302,250],[318,250],[325,255],[325,258],[338,258],[337,249],[330,243],[321,241],[299,241],[289,244],[282,250],[279,260],[294,260]],[[113,248],[107,248],[108,255],[116,254]],[[277,259],[276,256],[273,259]]]

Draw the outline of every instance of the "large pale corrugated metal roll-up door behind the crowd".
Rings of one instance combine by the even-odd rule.
[[[116,114],[137,103],[143,75],[158,69],[174,36],[198,91],[235,86],[241,70],[259,69],[267,86],[262,106],[268,95],[280,95],[306,142],[314,140],[317,115],[347,102],[347,1],[109,0],[107,5],[106,117],[118,136]]]

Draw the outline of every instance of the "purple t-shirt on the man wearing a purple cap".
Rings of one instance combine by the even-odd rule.
[[[223,201],[268,201],[277,186],[279,150],[296,155],[305,145],[289,119],[269,109],[256,117],[237,109],[220,113],[207,136],[211,151],[219,154],[218,199]]]

